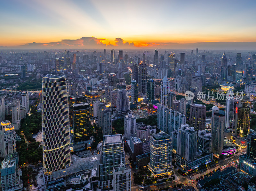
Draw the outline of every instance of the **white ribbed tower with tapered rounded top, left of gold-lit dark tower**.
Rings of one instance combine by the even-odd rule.
[[[232,131],[234,126],[234,93],[229,88],[226,94],[226,109],[225,109],[225,131]]]

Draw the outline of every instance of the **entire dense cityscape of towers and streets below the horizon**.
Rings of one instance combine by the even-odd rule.
[[[2,50],[3,191],[255,191],[256,52]]]

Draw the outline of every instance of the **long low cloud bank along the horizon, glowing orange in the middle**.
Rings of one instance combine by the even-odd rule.
[[[211,50],[256,50],[256,42],[125,42],[122,38],[116,38],[110,43],[105,38],[82,37],[80,39],[62,39],[59,42],[28,42],[15,47],[0,46],[0,49],[211,49]]]

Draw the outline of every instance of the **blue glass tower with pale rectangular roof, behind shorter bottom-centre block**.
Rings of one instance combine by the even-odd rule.
[[[124,140],[122,135],[103,136],[100,151],[99,188],[113,187],[113,167],[124,161]]]

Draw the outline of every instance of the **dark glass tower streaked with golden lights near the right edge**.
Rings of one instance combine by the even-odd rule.
[[[248,96],[243,95],[242,99],[239,99],[237,109],[237,125],[235,129],[235,135],[239,138],[245,139],[250,132],[250,93]]]

